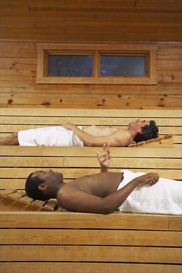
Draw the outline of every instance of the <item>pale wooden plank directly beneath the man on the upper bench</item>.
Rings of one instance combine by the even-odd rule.
[[[96,156],[98,147],[45,147],[45,146],[1,146],[1,156]],[[175,158],[181,158],[182,145],[174,144],[173,148],[151,148],[151,147],[110,147],[112,157],[153,157],[153,158],[169,158],[173,153]],[[96,162],[96,161],[95,161]]]

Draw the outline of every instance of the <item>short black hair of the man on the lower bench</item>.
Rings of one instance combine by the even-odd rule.
[[[38,178],[37,176],[31,177],[33,173],[29,174],[25,183],[25,192],[28,197],[33,198],[33,200],[48,200],[49,198],[40,191],[38,186],[45,182],[45,180]]]

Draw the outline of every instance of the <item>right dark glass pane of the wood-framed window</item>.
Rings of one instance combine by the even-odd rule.
[[[145,56],[100,56],[100,76],[145,76]]]

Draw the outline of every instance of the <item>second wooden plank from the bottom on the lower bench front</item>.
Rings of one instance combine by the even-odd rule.
[[[46,247],[48,250],[46,251]],[[148,248],[112,246],[3,246],[1,261],[91,261],[91,262],[140,262],[140,263],[182,263],[182,249],[180,248]],[[31,253],[31,255],[29,255]]]

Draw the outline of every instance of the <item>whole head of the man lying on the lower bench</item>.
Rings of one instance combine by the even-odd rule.
[[[48,200],[56,198],[57,192],[63,182],[62,173],[47,171],[36,171],[31,173],[25,183],[25,192],[34,200]]]

